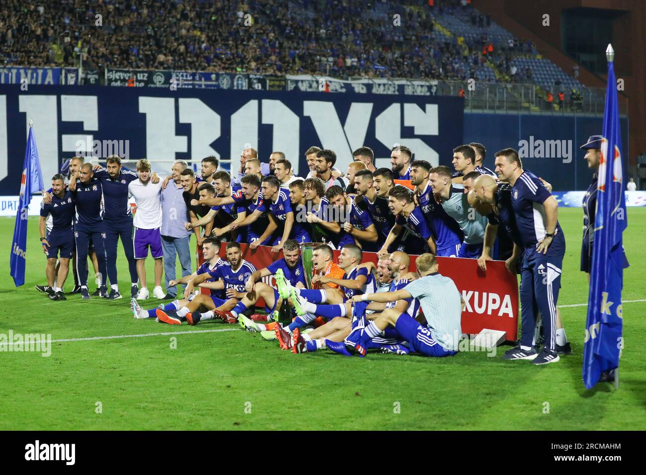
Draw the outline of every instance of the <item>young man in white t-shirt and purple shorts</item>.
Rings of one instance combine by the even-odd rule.
[[[137,275],[141,284],[137,300],[145,300],[150,295],[146,288],[145,268],[148,248],[151,248],[152,258],[155,260],[155,288],[152,295],[156,299],[163,299],[165,295],[161,290],[163,249],[160,233],[162,184],[151,182],[151,162],[145,158],[137,162],[137,174],[139,179],[133,180],[128,185],[128,196],[134,197],[137,205],[137,211],[132,219],[134,259],[137,260]]]

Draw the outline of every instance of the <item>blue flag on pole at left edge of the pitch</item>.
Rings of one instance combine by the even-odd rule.
[[[20,182],[20,200],[18,214],[16,215],[16,227],[14,227],[14,240],[11,245],[11,277],[14,278],[16,287],[25,284],[25,255],[27,251],[27,218],[29,202],[32,200],[32,193],[43,190],[43,174],[38,160],[36,139],[34,129],[29,127],[27,147],[25,149],[25,165],[23,166],[23,178]]]

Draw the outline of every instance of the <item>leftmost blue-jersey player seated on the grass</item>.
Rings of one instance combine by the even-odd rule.
[[[177,284],[187,284],[191,280],[196,279],[197,277],[204,276],[205,279],[213,279],[214,273],[218,266],[225,263],[224,259],[220,259],[218,256],[218,251],[220,251],[220,241],[216,238],[205,238],[202,246],[202,255],[205,262],[198,268],[193,274],[182,277],[179,280],[171,280],[175,285]],[[206,280],[202,285],[206,283]],[[221,288],[224,289],[224,283],[221,284]],[[160,304],[160,306],[151,308],[150,310],[144,310],[139,305],[137,299],[130,300],[130,310],[132,310],[132,315],[136,319],[147,319],[157,317],[158,321],[163,323],[168,323],[172,325],[178,325],[180,322],[185,321],[185,318],[180,317],[169,317],[169,312],[178,311],[181,308],[187,306],[189,302],[194,299],[198,299],[198,302],[204,302],[206,299],[211,299],[217,307],[222,309],[233,308],[237,301],[227,301],[223,299],[224,293],[218,292],[216,290],[211,290],[211,295],[198,294],[185,294],[185,299],[183,300],[174,300],[169,304]],[[161,310],[161,311],[160,311]]]

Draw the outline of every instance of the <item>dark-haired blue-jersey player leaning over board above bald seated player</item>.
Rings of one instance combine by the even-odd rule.
[[[404,228],[408,229],[414,237],[406,242],[405,251],[407,253],[422,254],[426,252],[426,249],[435,253],[436,247],[432,229],[428,226],[421,209],[415,206],[412,191],[404,186],[396,186],[390,191],[388,202],[391,213],[396,216],[395,225],[377,254],[387,254],[389,246],[404,232]]]

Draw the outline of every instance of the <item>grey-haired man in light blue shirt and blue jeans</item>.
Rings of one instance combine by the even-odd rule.
[[[182,277],[191,275],[191,231],[184,228],[189,220],[189,211],[182,196],[184,188],[180,184],[181,173],[188,164],[178,160],[172,164],[172,182],[161,192],[161,247],[163,248],[164,280],[166,295],[164,300],[174,300],[177,286],[169,287],[171,280],[178,280],[175,273],[176,255],[180,257]]]

